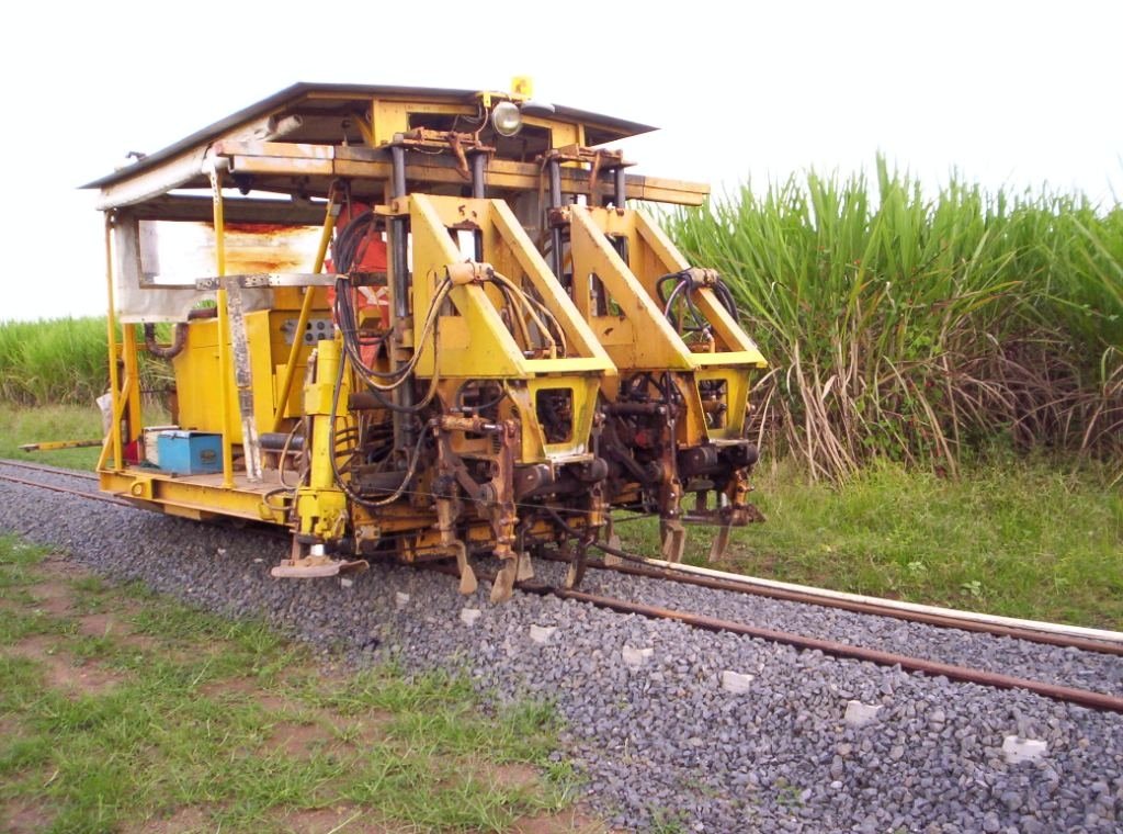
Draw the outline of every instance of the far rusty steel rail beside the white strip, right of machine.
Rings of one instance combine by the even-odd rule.
[[[1112,654],[1123,656],[1123,644],[1107,643],[1087,637],[1065,637],[1048,632],[1039,632],[1033,628],[1020,628],[1016,626],[998,625],[993,623],[980,623],[973,619],[964,619],[953,615],[930,614],[926,611],[909,611],[891,606],[882,606],[876,602],[859,602],[847,599],[834,599],[822,597],[818,593],[805,593],[801,591],[787,590],[784,588],[769,588],[764,586],[748,584],[736,580],[718,579],[711,577],[700,577],[692,573],[667,570],[665,568],[647,568],[633,564],[605,564],[600,560],[588,560],[587,568],[623,573],[631,577],[645,579],[659,579],[681,584],[692,584],[711,590],[728,591],[731,593],[747,593],[769,599],[780,599],[789,602],[802,602],[805,605],[816,605],[824,608],[839,608],[856,614],[867,614],[877,617],[889,617],[901,619],[906,623],[922,623],[938,628],[958,628],[964,632],[977,632],[979,634],[993,634],[997,637],[1011,637],[1013,640],[1024,640],[1031,643],[1059,646],[1062,649],[1079,649],[1085,652],[1098,652],[1101,654]]]

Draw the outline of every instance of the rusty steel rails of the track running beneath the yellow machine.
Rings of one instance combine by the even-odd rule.
[[[44,474],[62,475],[65,478],[73,478],[75,480],[81,480],[81,481],[97,482],[98,480],[95,475],[85,472],[75,472],[72,470],[60,469],[57,466],[47,466],[43,464],[30,464],[21,461],[0,460],[0,469],[8,466],[26,471],[40,472]],[[102,495],[95,491],[95,487],[89,490],[72,489],[67,487],[61,487],[58,484],[46,483],[43,481],[34,481],[34,480],[28,480],[26,478],[13,477],[4,472],[0,472],[0,481],[15,483],[21,487],[70,493],[88,500],[94,500],[99,502],[112,504],[117,506],[125,506],[133,508],[133,505],[127,501],[124,501],[119,498],[115,498],[112,496]],[[843,610],[849,610],[852,613],[864,614],[868,616],[892,617],[894,619],[906,620],[911,623],[920,623],[923,625],[933,626],[938,628],[956,628],[961,631],[989,634],[995,637],[1021,640],[1021,641],[1028,641],[1028,642],[1058,646],[1063,649],[1075,649],[1085,652],[1096,652],[1115,656],[1123,656],[1123,644],[1119,642],[1089,640],[1086,637],[1065,635],[1065,634],[1043,633],[1038,628],[1032,627],[1032,625],[1010,626],[1010,625],[996,625],[988,623],[976,623],[964,619],[961,613],[955,613],[955,611],[948,611],[947,614],[938,615],[930,613],[906,611],[906,610],[901,610],[898,608],[894,608],[889,605],[878,605],[876,602],[868,602],[868,601],[855,602],[851,600],[824,599],[821,596],[812,593],[802,593],[802,592],[784,590],[784,589],[775,589],[775,588],[755,587],[751,584],[747,584],[736,574],[727,574],[724,577],[692,575],[690,573],[685,573],[665,566],[660,568],[660,566],[651,566],[650,564],[642,564],[641,562],[646,560],[642,560],[641,557],[638,556],[633,556],[631,554],[626,554],[620,552],[618,553],[618,555],[626,556],[631,563],[606,564],[603,561],[590,560],[585,563],[585,566],[594,570],[611,571],[615,573],[622,573],[649,580],[692,584],[728,593],[765,596],[774,599],[783,599],[805,605],[840,608]],[[433,569],[442,570],[440,568],[433,568]],[[480,575],[481,579],[490,581],[494,580],[494,577],[490,577],[485,572],[477,571],[477,575]],[[1107,695],[1104,692],[1096,692],[1087,689],[1061,686],[1047,681],[1032,680],[1014,676],[999,674],[984,669],[976,669],[966,665],[957,665],[952,663],[943,663],[939,661],[911,656],[906,654],[885,652],[877,649],[870,649],[866,646],[853,645],[832,640],[824,640],[821,637],[813,637],[793,632],[764,628],[731,619],[713,617],[704,614],[664,608],[659,606],[647,605],[643,602],[627,600],[618,597],[591,593],[587,591],[568,589],[537,581],[520,582],[518,583],[517,587],[524,593],[532,593],[538,596],[555,596],[560,599],[570,599],[574,601],[585,602],[595,606],[597,608],[604,608],[622,614],[634,614],[651,619],[675,620],[683,623],[687,626],[691,626],[693,628],[700,628],[710,632],[728,632],[741,636],[757,637],[776,643],[783,643],[801,650],[820,651],[824,654],[829,654],[836,658],[867,661],[884,667],[900,667],[901,669],[911,672],[919,672],[928,676],[943,676],[949,680],[977,683],[980,686],[992,687],[996,689],[1022,689],[1030,692],[1034,692],[1046,698],[1050,698],[1052,700],[1076,704],[1093,709],[1123,713],[1123,698],[1113,695]]]

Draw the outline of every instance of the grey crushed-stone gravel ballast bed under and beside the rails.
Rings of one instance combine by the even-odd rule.
[[[1123,716],[554,598],[492,606],[486,583],[465,598],[448,577],[398,566],[349,584],[274,580],[286,549],[273,535],[2,481],[0,529],[357,662],[440,665],[500,698],[549,698],[567,727],[555,755],[624,830],[1121,830]],[[599,572],[585,588],[1116,695],[1123,678],[1119,658],[846,611]]]

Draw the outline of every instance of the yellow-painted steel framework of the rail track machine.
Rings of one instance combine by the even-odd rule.
[[[356,109],[362,109],[362,106]],[[372,101],[367,112],[354,114],[366,147],[246,140],[249,135],[246,133],[228,134],[209,146],[201,158],[212,163],[209,184],[217,275],[220,279],[227,275],[222,193],[227,176],[281,178],[282,182],[285,178],[299,178],[300,182],[309,185],[310,193],[328,194],[313,265],[313,272],[320,272],[338,211],[337,179],[364,180],[367,184],[389,188],[393,170],[390,155],[383,148],[394,142],[395,135],[409,129],[411,112],[473,116],[476,108],[474,103],[439,96],[431,101],[407,96]],[[584,124],[532,117],[526,120],[530,125],[549,128],[555,147],[585,143]],[[198,171],[198,167],[194,170]],[[464,188],[462,171],[450,155],[412,155],[404,173],[409,181],[423,182],[442,193],[457,193]],[[536,163],[490,158],[485,180],[486,188],[493,193],[541,193],[544,172]],[[590,172],[576,163],[566,163],[562,167],[560,184],[563,193],[588,194],[590,202],[614,197],[612,183],[591,180]],[[706,188],[692,183],[631,175],[626,178],[624,190],[630,199],[682,205],[699,205],[707,193]],[[710,350],[699,351],[675,332],[663,314],[656,283],[659,277],[685,269],[686,262],[661,230],[639,212],[578,205],[564,209],[569,220],[574,265],[574,292],[570,297],[504,200],[414,193],[394,200],[387,198],[387,202],[390,205],[378,211],[387,217],[408,217],[411,234],[412,283],[411,298],[405,307],[412,310],[412,320],[398,323],[399,327],[404,326],[407,337],[396,350],[405,355],[416,354],[416,377],[435,380],[438,396],[446,406],[458,386],[466,381],[499,381],[508,393],[508,401],[502,406],[502,419],[519,427],[518,444],[513,446],[517,463],[558,466],[581,464],[591,459],[588,442],[593,435],[599,397],[604,395],[612,399],[619,386],[618,374],[638,371],[673,373],[687,406],[685,419],[676,424],[679,445],[720,445],[738,442],[742,437],[749,371],[765,368],[765,360],[714,293],[704,287],[696,290],[694,300],[712,325],[714,344]],[[232,211],[231,218],[237,219]],[[450,230],[458,229],[478,235],[482,260],[550,311],[565,333],[566,355],[542,355],[530,350],[530,345],[520,344],[501,315],[499,291],[487,283],[455,285],[448,296],[447,308],[440,311],[438,326],[428,336],[423,335],[426,312],[448,268],[466,260],[450,234]],[[628,263],[610,244],[610,237],[628,241]],[[199,390],[193,395],[204,398],[209,407],[220,415],[221,473],[175,477],[130,466],[126,461],[126,447],[139,439],[141,429],[138,344],[135,325],[125,326],[119,341],[117,336],[113,242],[113,214],[110,211],[106,221],[106,259],[112,420],[98,465],[102,489],[140,506],[193,518],[225,515],[284,525],[292,522],[291,510],[295,509],[299,531],[319,538],[341,535],[350,511],[356,536],[376,538],[382,532],[411,531],[416,536],[407,549],[445,544],[444,533],[447,529],[438,529],[432,524],[429,506],[405,497],[385,507],[384,511],[372,515],[366,509],[349,507],[344,490],[336,482],[331,457],[335,454],[331,442],[335,427],[329,415],[337,369],[344,362],[338,336],[318,344],[314,379],[308,380],[303,387],[302,415],[312,418],[312,436],[307,438],[311,452],[307,486],[298,490],[293,499],[274,499],[277,501],[274,504],[267,498],[273,484],[250,483],[235,471],[235,445],[239,439],[234,411],[235,362],[228,291],[221,281],[217,289],[217,321],[192,326],[200,335],[208,327],[213,327],[217,341],[217,384],[213,390]],[[590,291],[592,275],[603,283],[617,305],[606,315],[594,310]],[[391,275],[390,287],[393,285]],[[254,392],[255,402],[270,404],[267,416],[263,418],[262,414],[257,414],[256,418],[258,426],[267,426],[271,432],[293,425],[286,406],[290,392],[298,384],[296,374],[302,357],[300,334],[318,298],[322,294],[314,288],[304,290],[300,299],[295,338],[284,364],[273,366],[271,353],[271,373],[264,374],[264,378],[262,374],[254,375],[258,388],[275,386],[268,396],[262,391]],[[295,297],[289,300],[294,308]],[[391,309],[394,309],[393,301],[391,299]],[[266,321],[265,329],[272,333],[271,328],[272,325]],[[256,345],[265,337],[259,330],[255,333],[257,335],[252,341],[256,351]],[[526,333],[522,341],[529,341]],[[274,345],[271,350],[281,348]],[[395,359],[400,361],[401,357]],[[210,363],[208,366],[213,366],[212,353],[207,362]],[[344,379],[347,386],[349,374],[345,372]],[[729,411],[720,426],[713,426],[707,420],[699,393],[699,382],[706,380],[723,380],[727,383]],[[539,424],[538,396],[551,389],[567,389],[572,395],[572,432],[565,441],[548,439]],[[346,392],[340,397],[340,414],[336,418],[346,421],[351,418],[344,402]],[[129,427],[128,436],[122,434],[122,425]],[[467,442],[462,437],[458,442],[462,445],[457,446],[457,454],[476,441]],[[487,445],[485,441],[480,443]],[[499,535],[494,533],[496,528],[490,528],[482,517],[465,520],[463,525],[464,535],[468,538],[482,541],[490,535]],[[359,526],[369,529],[360,533]]]

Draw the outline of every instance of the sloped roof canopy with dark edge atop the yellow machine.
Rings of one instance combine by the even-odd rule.
[[[168,219],[194,218],[202,214],[201,205],[184,202],[183,192],[208,189],[209,171],[219,164],[229,172],[226,184],[244,194],[273,193],[307,202],[322,198],[331,182],[343,179],[356,197],[377,201],[389,176],[391,142],[414,132],[453,132],[486,146],[489,188],[496,194],[512,193],[540,187],[541,155],[551,148],[596,147],[655,129],[574,108],[554,106],[549,112],[522,102],[522,130],[500,135],[485,103],[509,98],[474,90],[298,83],[83,188],[101,190],[98,207],[103,210],[131,207],[137,216],[180,212],[185,216]],[[601,188],[594,182],[600,153],[596,164],[566,167],[566,192]],[[619,152],[604,153],[615,153],[618,165],[630,164]],[[458,193],[465,173],[463,153],[457,160],[455,153],[419,152],[407,162],[408,181],[431,192]],[[629,199],[699,205],[709,191],[636,174],[627,180]],[[249,202],[247,211],[256,216]]]

